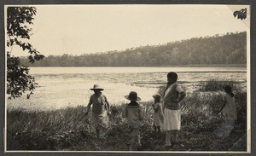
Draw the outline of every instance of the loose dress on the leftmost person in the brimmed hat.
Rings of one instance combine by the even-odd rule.
[[[96,128],[108,128],[109,118],[106,101],[106,96],[103,94],[90,96],[90,103],[92,103],[91,119]]]

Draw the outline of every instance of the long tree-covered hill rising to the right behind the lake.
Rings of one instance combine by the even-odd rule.
[[[20,61],[25,66],[182,66],[245,64],[246,57],[247,34],[237,32],[93,55],[49,55],[34,64],[25,57]]]

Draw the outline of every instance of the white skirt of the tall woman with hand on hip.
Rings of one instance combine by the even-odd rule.
[[[180,130],[181,111],[180,110],[164,110],[164,130]]]

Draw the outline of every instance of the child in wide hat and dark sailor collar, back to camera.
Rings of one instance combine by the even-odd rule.
[[[143,120],[143,109],[137,103],[141,101],[141,98],[137,96],[137,92],[131,91],[129,95],[125,95],[125,98],[131,102],[125,107],[125,118],[128,120],[128,126],[131,130],[131,147],[130,150],[136,150],[137,147],[141,147],[140,127]]]

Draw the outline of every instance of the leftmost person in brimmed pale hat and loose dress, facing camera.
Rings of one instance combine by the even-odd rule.
[[[94,94],[90,96],[85,115],[88,115],[90,106],[92,105],[91,120],[96,129],[96,137],[100,138],[102,128],[108,129],[109,103],[107,97],[102,94],[102,90],[104,89],[99,84],[94,84],[90,90],[93,90]]]

